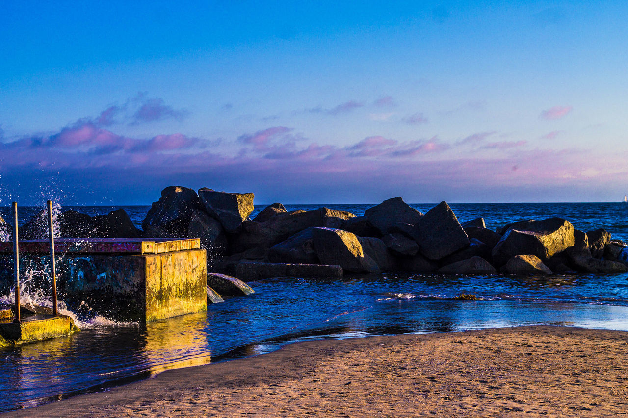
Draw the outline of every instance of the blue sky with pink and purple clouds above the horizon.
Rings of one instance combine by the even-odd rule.
[[[628,192],[624,2],[2,8],[0,205]]]

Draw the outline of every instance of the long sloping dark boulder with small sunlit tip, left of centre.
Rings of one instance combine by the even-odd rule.
[[[254,247],[270,248],[305,228],[340,228],[345,220],[354,216],[349,212],[319,208],[279,213],[261,223],[245,221],[231,237],[230,250],[238,253]]]

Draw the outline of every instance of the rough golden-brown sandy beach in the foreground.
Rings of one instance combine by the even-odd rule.
[[[609,417],[627,384],[627,332],[529,326],[308,341],[7,415]]]

